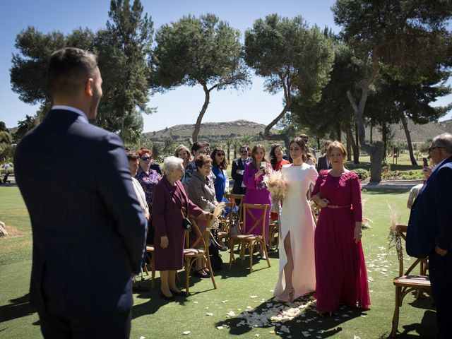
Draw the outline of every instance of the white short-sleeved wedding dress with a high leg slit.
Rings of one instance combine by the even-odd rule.
[[[290,233],[290,245],[294,260],[292,285],[293,299],[297,299],[316,287],[316,269],[314,258],[314,232],[316,224],[312,217],[311,208],[306,193],[311,183],[316,182],[317,174],[314,166],[303,163],[301,166],[284,165],[281,169],[283,179],[287,182],[287,190],[280,213],[279,254],[280,268],[278,283],[273,295],[283,294],[286,281],[284,266],[287,254],[284,249],[284,239]]]

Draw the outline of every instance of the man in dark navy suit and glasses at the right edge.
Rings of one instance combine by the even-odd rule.
[[[451,338],[452,333],[452,134],[436,136],[429,147],[432,169],[412,204],[407,232],[407,253],[429,257],[429,275],[436,306],[439,333],[436,338]]]

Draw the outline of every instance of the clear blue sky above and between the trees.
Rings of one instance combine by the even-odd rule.
[[[109,0],[4,1],[0,13],[0,120],[5,121],[7,127],[16,126],[25,114],[34,115],[37,109],[37,106],[20,102],[18,95],[11,90],[9,69],[12,54],[16,52],[16,35],[28,26],[44,33],[54,30],[68,33],[78,27],[105,28],[109,3]],[[333,0],[142,0],[141,3],[144,11],[152,17],[155,29],[189,13],[196,16],[214,13],[243,35],[256,18],[278,13],[290,18],[301,15],[309,25],[316,24],[321,28],[327,25],[333,31],[339,31],[330,10]],[[194,124],[203,100],[201,87],[182,87],[150,97],[148,106],[157,107],[157,113],[144,117],[144,131],[158,131],[175,124]],[[452,95],[449,95],[436,104],[447,105],[451,101]],[[282,93],[270,95],[264,92],[262,79],[254,77],[251,88],[212,93],[203,122],[247,119],[268,124],[282,108]],[[451,118],[452,114],[447,117]]]

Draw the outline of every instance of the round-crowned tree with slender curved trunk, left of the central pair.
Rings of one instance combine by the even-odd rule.
[[[153,50],[155,90],[201,85],[204,91],[193,141],[197,141],[210,92],[249,83],[239,38],[239,30],[213,14],[184,16],[157,30]]]

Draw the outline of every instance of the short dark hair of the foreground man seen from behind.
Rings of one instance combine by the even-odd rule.
[[[66,47],[52,53],[47,79],[53,95],[69,95],[89,78],[97,76],[97,57],[79,48]]]

